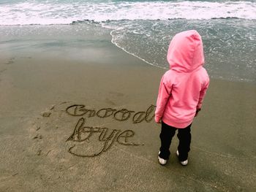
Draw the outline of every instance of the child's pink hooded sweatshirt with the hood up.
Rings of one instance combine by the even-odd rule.
[[[165,72],[159,85],[155,121],[186,128],[200,110],[209,85],[203,68],[203,42],[195,30],[176,34],[167,53],[170,70]]]

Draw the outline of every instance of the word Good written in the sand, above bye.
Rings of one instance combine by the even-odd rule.
[[[67,107],[66,112],[67,114],[72,116],[86,115],[88,118],[95,117],[95,116],[97,116],[98,118],[112,117],[113,119],[118,121],[128,120],[132,116],[132,123],[141,123],[143,120],[149,123],[154,118],[155,108],[156,106],[151,104],[151,106],[148,107],[146,112],[135,112],[127,109],[116,110],[112,108],[102,108],[100,110],[91,110],[91,109],[86,109],[86,106],[83,104],[74,104],[72,106]]]

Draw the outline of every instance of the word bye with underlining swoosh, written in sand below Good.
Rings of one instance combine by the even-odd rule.
[[[78,154],[73,151],[72,146],[69,148],[69,153],[79,157],[95,157],[101,155],[103,152],[107,152],[113,146],[115,142],[121,145],[130,145],[138,146],[139,144],[128,142],[129,138],[132,138],[135,135],[135,132],[132,130],[121,131],[118,129],[109,130],[109,128],[100,128],[100,127],[90,127],[85,126],[85,118],[80,118],[78,123],[75,126],[73,134],[67,139],[67,141],[72,142],[84,142],[89,141],[89,138],[94,134],[98,134],[98,142],[103,142],[103,147],[97,153],[94,154]]]

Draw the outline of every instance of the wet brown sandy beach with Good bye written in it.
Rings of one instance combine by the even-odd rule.
[[[160,166],[152,115],[164,69],[109,34],[90,33],[83,49],[10,40],[0,55],[0,191],[256,190],[255,83],[211,79],[189,165],[175,137]]]

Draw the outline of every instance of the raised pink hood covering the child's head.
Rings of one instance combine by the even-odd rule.
[[[195,30],[176,34],[167,52],[170,69],[177,72],[192,72],[204,64],[203,42]]]

